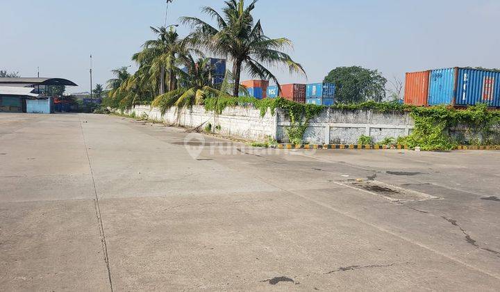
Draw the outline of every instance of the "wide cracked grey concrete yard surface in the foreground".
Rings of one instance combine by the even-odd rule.
[[[0,289],[500,289],[500,152],[198,136],[214,144],[193,158],[187,135],[106,115],[0,114]],[[349,179],[442,200],[391,202]]]

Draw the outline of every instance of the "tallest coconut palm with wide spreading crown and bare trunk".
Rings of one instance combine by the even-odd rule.
[[[292,42],[287,38],[268,38],[263,33],[260,20],[254,22],[251,12],[257,1],[251,1],[249,6],[245,7],[244,0],[228,0],[222,9],[224,16],[211,7],[201,8],[203,13],[215,19],[217,27],[197,17],[181,17],[183,24],[194,29],[187,38],[192,45],[218,56],[231,58],[235,79],[234,96],[238,96],[242,65],[247,67],[251,76],[272,79],[278,86],[278,79],[265,65],[286,65],[291,73],[306,74],[299,63],[282,51],[291,48]]]

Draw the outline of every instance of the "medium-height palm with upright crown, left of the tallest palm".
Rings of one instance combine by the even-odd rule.
[[[132,60],[138,63],[147,63],[151,65],[150,74],[158,76],[158,93],[165,93],[165,79],[168,79],[168,90],[174,90],[177,87],[176,60],[179,54],[185,52],[185,43],[179,40],[178,33],[171,27],[165,26],[157,29],[151,27],[151,31],[158,35],[156,40],[147,40],[142,45],[142,51],[135,54]],[[167,78],[165,78],[167,77]],[[156,81],[154,81],[156,83]]]

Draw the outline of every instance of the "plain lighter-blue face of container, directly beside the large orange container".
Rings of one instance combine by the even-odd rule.
[[[456,68],[431,70],[429,76],[428,105],[453,105],[456,88]]]

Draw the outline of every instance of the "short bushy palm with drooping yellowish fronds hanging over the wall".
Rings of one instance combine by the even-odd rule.
[[[209,58],[200,58],[195,61],[192,56],[185,56],[183,60],[188,72],[178,69],[174,72],[180,76],[179,88],[159,95],[151,103],[151,106],[160,108],[162,114],[174,106],[190,108],[195,104],[203,104],[207,97],[226,95],[212,87],[210,72],[214,70],[214,67],[210,64]]]

